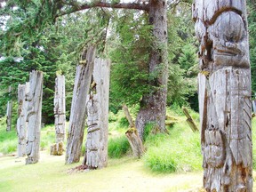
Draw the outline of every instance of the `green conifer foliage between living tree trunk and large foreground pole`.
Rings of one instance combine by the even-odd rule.
[[[196,44],[193,38],[194,23],[190,19],[188,4],[179,4],[177,10],[168,12],[168,54],[169,81],[168,105],[188,105],[197,102],[196,76],[198,72],[196,60]],[[193,105],[196,109],[197,103]]]

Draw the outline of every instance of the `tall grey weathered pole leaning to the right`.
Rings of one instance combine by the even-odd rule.
[[[76,67],[68,127],[66,164],[73,164],[80,160],[86,118],[86,97],[90,89],[95,52],[95,47],[90,46],[83,52],[80,65]]]

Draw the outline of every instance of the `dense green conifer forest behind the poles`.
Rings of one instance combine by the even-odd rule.
[[[76,65],[84,46],[89,43],[98,44],[97,56],[109,58],[112,62],[110,113],[115,116],[125,103],[136,114],[142,95],[152,89],[148,82],[154,79],[154,74],[149,75],[147,65],[152,27],[147,25],[146,13],[92,8],[58,17],[52,23],[49,22],[51,15],[45,15],[44,20],[42,16],[36,17],[41,8],[38,4],[34,1],[28,6],[26,1],[15,0],[8,1],[5,6],[1,4],[0,118],[6,115],[7,101],[12,100],[12,122],[16,122],[18,84],[25,84],[29,72],[36,69],[44,71],[43,123],[54,122],[53,96],[58,74],[66,76],[68,120]],[[167,106],[174,110],[186,106],[198,111],[198,43],[191,19],[191,4],[192,1],[186,0],[172,1],[168,9]],[[256,92],[256,7],[253,1],[247,5],[253,99]],[[49,9],[47,12],[54,12],[51,4],[44,8]],[[22,22],[31,15],[35,15],[35,20],[29,21],[31,28],[29,25],[24,27]],[[21,31],[22,36],[15,31]],[[12,86],[12,92],[8,91],[9,86]]]

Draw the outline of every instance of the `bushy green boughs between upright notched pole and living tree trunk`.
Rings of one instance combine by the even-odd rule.
[[[118,12],[119,13],[119,12]],[[112,60],[110,77],[110,108],[123,103],[133,105],[149,92],[148,50],[151,26],[147,18],[136,11],[116,14],[115,33],[108,39],[109,56]]]

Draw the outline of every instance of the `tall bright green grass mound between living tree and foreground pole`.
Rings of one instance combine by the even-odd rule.
[[[145,165],[156,172],[191,172],[201,170],[200,135],[188,132],[186,122],[174,124],[170,134],[149,135],[146,140]]]

